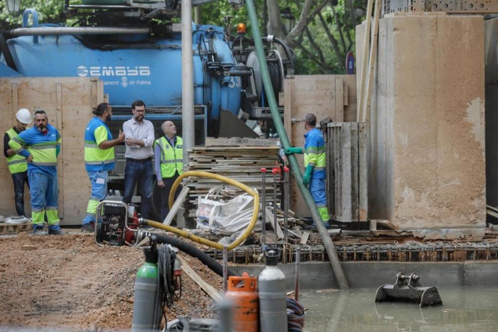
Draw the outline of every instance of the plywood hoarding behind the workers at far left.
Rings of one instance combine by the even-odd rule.
[[[0,78],[0,114],[3,133],[15,124],[15,113],[26,108],[31,113],[47,112],[50,124],[62,135],[58,158],[59,215],[61,224],[79,224],[85,216],[90,181],[83,162],[83,135],[92,118],[92,106],[104,100],[103,83],[98,79]],[[5,158],[0,158],[0,215],[15,215],[12,178]],[[31,214],[29,192],[24,195],[26,214]]]

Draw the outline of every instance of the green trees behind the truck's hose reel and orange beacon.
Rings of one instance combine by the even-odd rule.
[[[338,0],[337,4],[329,0],[310,1],[309,10],[303,17],[304,27],[292,31],[289,20],[282,18],[282,13],[286,8],[290,9],[295,25],[303,15],[306,2],[255,0],[261,32],[285,39],[294,48],[297,74],[344,74],[346,54],[355,51],[355,27],[365,17],[366,0]],[[278,3],[278,8],[273,8],[274,15],[268,17],[268,6],[275,3]],[[224,1],[214,1],[203,4],[201,8],[203,23],[223,25],[223,17],[232,15],[232,26],[245,22],[250,35],[249,18],[244,7],[233,9]],[[272,23],[269,24],[271,31],[268,31],[268,22]]]

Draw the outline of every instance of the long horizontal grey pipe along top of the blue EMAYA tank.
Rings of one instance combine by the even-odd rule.
[[[150,33],[146,27],[111,27],[111,26],[80,26],[80,27],[53,27],[40,26],[37,28],[17,28],[5,31],[7,38],[21,36],[62,36],[62,35],[87,35],[87,34],[139,34]]]

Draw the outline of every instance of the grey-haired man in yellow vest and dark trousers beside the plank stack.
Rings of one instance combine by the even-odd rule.
[[[169,213],[168,198],[173,183],[183,173],[183,140],[176,135],[172,121],[161,124],[164,136],[154,142],[154,166],[157,186],[161,188],[161,222]],[[175,199],[179,191],[175,193]]]

